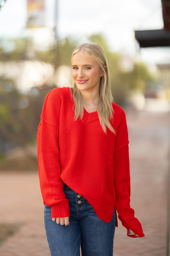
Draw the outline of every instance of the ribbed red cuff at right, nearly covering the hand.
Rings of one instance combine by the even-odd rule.
[[[139,235],[139,237],[144,236],[142,226],[137,218],[135,218],[135,217],[124,218],[120,215],[118,215],[118,217],[122,221],[122,225],[127,228],[127,231],[129,231],[129,229],[131,229],[136,235]],[[127,235],[128,235],[128,233],[127,233]],[[135,235],[128,235],[128,236],[134,237],[134,238],[137,237]]]

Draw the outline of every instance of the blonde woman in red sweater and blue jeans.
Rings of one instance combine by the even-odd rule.
[[[71,58],[73,88],[51,90],[37,145],[45,227],[52,256],[113,255],[116,211],[130,237],[143,237],[130,208],[128,130],[112,102],[107,59],[95,43]]]

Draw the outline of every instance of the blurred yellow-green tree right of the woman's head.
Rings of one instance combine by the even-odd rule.
[[[101,35],[92,35],[89,40],[99,44],[106,53],[112,95],[116,104],[123,106],[127,103],[129,90],[137,90],[143,93],[148,83],[156,82],[155,77],[144,63],[133,63],[132,70],[123,71],[120,65],[120,54],[110,52],[104,37]]]

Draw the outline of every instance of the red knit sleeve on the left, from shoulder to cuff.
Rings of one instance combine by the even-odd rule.
[[[51,217],[70,216],[69,202],[60,179],[58,128],[61,97],[56,89],[45,99],[37,134],[40,187],[43,201],[51,206]]]

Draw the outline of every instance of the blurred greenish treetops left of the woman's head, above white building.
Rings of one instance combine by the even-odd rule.
[[[46,51],[35,49],[31,37],[0,39],[1,61],[37,60],[52,64],[55,69],[61,65],[69,65],[73,50],[77,42],[72,38],[59,40]]]

